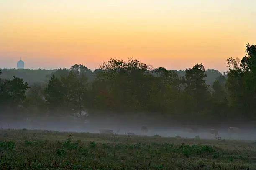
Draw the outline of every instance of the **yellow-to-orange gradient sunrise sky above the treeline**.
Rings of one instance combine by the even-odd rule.
[[[0,68],[94,70],[111,57],[224,72],[256,43],[256,0],[0,0]]]

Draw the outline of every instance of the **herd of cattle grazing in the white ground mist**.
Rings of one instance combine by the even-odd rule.
[[[197,128],[185,128],[184,129],[185,131],[189,132],[189,133],[198,133],[198,129]],[[110,130],[110,129],[100,129],[100,134],[114,134],[114,131],[113,130]],[[120,128],[118,128],[117,130],[117,133],[120,132]],[[211,137],[212,138],[215,138],[215,139],[220,139],[220,135],[219,135],[219,131],[216,130],[216,129],[209,129],[208,132],[210,133]],[[239,133],[241,132],[241,129],[238,128],[238,127],[229,127],[228,128],[228,134],[236,134],[236,135],[239,135]],[[140,135],[146,135],[148,133],[148,127],[147,126],[141,126],[141,134]],[[128,136],[133,136],[135,135],[134,133],[131,133],[131,132],[126,132],[125,135],[128,135]]]

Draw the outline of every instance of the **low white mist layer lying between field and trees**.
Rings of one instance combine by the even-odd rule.
[[[141,134],[141,126],[147,126],[148,132]],[[51,130],[65,132],[99,133],[99,129],[111,129],[119,135],[134,133],[135,135],[182,137],[202,139],[225,139],[225,140],[256,140],[256,128],[246,125],[236,125],[240,128],[239,133],[229,133],[229,125],[202,126],[202,125],[172,125],[159,126],[151,123],[123,121],[117,119],[94,118],[86,121],[73,119],[71,117],[34,117],[24,119],[1,119],[0,128],[28,130]],[[191,131],[191,129],[197,129]],[[210,134],[210,129],[218,131],[218,138]]]

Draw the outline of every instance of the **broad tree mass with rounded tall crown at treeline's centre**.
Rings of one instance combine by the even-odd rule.
[[[105,87],[99,90],[107,97],[105,106],[112,110],[143,110],[148,97],[147,90],[150,84],[146,80],[149,66],[132,57],[128,62],[110,59],[100,65],[97,81]],[[100,83],[95,83],[95,85]],[[103,90],[104,89],[104,90]],[[97,97],[100,99],[102,97]],[[103,100],[101,100],[103,101]]]

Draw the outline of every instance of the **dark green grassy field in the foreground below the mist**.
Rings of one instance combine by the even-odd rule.
[[[0,130],[1,170],[254,170],[256,143]]]

